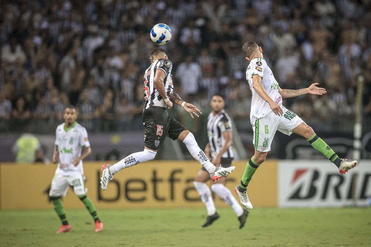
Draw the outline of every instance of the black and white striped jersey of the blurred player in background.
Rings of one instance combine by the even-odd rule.
[[[209,145],[211,157],[214,158],[219,152],[220,148],[224,145],[223,133],[226,131],[232,131],[232,120],[222,110],[219,114],[211,112],[207,121],[207,136],[209,136]],[[234,158],[232,146],[221,156],[222,158]]]

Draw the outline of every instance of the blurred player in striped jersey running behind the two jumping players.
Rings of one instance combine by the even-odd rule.
[[[225,102],[223,96],[214,94],[210,102],[211,113],[207,121],[207,135],[209,143],[206,144],[205,154],[215,166],[221,164],[223,167],[230,167],[234,158],[232,144],[232,121],[226,111],[224,111]],[[211,190],[206,182],[210,176],[204,167],[198,171],[193,184],[202,202],[206,205],[207,218],[202,227],[210,226],[220,216],[216,212],[211,190],[222,198],[237,214],[240,221],[240,229],[246,222],[248,211],[243,209],[232,195],[231,191],[224,186],[226,177],[221,177],[215,184],[211,185]]]

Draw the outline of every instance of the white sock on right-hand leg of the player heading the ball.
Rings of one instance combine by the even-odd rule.
[[[214,166],[210,160],[206,157],[204,151],[198,147],[196,139],[194,138],[193,134],[190,132],[183,140],[185,146],[187,146],[189,153],[195,158],[200,164],[205,167],[205,169],[209,173],[213,173],[216,170],[216,166]]]

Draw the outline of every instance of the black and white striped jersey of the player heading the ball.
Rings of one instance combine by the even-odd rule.
[[[145,71],[143,86],[145,99],[144,109],[148,109],[150,106],[166,107],[165,101],[155,88],[153,79],[156,70],[162,70],[165,72],[166,78],[164,79],[164,86],[167,97],[170,97],[171,92],[174,90],[173,80],[171,79],[171,69],[173,69],[173,63],[171,63],[170,60],[158,59]]]

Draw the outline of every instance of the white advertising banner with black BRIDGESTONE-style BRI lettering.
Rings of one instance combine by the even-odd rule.
[[[357,206],[369,204],[371,160],[360,161],[344,175],[326,160],[280,160],[278,163],[279,207],[350,206],[353,193]]]

